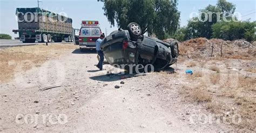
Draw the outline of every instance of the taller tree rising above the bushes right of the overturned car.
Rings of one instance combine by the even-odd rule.
[[[205,9],[199,10],[201,16],[188,21],[189,38],[212,37],[212,25],[225,19],[231,20],[235,11],[235,5],[226,0],[218,0],[216,5],[208,5]],[[224,18],[225,17],[225,18]]]

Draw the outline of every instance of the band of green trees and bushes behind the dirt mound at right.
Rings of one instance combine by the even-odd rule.
[[[220,14],[218,20],[219,12]],[[256,39],[254,35],[256,21],[238,21],[238,18],[230,17],[235,12],[235,5],[226,0],[218,0],[216,5],[208,5],[205,9],[199,10],[199,13],[205,13],[200,17],[194,17],[188,20],[187,26],[180,27],[173,35],[178,41],[185,41],[193,38],[217,38],[223,40],[245,39],[253,42]],[[228,16],[228,14],[231,14]],[[207,17],[205,16],[207,15]],[[211,21],[208,18],[212,17]],[[200,21],[205,20],[206,21]]]

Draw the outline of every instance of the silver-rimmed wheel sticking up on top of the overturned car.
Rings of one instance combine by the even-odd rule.
[[[130,23],[127,27],[131,35],[131,40],[137,41],[139,35],[142,34],[142,28],[137,23]]]

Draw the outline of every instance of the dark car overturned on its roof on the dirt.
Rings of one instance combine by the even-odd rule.
[[[107,62],[111,65],[150,65],[154,71],[159,71],[177,62],[177,41],[166,43],[142,35],[142,29],[136,23],[130,23],[127,28],[112,32],[100,44]]]

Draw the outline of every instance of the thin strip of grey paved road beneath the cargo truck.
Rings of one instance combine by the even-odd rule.
[[[53,43],[73,43],[73,42],[53,42]],[[29,45],[38,45],[42,44],[41,42],[35,43],[23,43],[19,40],[0,40],[0,47],[16,47],[16,46],[29,46]]]

